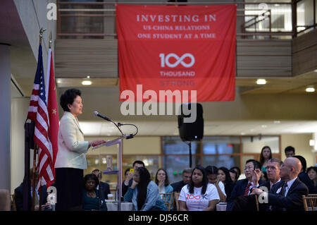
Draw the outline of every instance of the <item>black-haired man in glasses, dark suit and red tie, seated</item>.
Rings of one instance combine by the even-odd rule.
[[[235,187],[232,190],[231,197],[228,199],[227,211],[234,210],[234,205],[236,201],[239,201],[241,196],[247,196],[251,193],[251,188],[255,188],[254,184],[254,171],[261,172],[261,164],[260,162],[249,159],[247,160],[244,173],[245,177],[242,180],[237,181]],[[263,186],[263,181],[261,179],[258,181],[259,186]]]

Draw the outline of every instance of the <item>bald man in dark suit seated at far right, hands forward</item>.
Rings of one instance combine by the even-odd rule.
[[[299,181],[298,175],[301,169],[302,164],[299,159],[288,157],[280,168],[282,181],[276,183],[268,193],[254,188],[252,194],[261,195],[263,199],[267,199],[270,211],[303,211],[302,195],[308,195],[308,188]]]

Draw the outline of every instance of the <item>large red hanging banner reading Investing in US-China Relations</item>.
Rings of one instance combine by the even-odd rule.
[[[118,4],[120,101],[234,100],[236,20],[236,5]]]

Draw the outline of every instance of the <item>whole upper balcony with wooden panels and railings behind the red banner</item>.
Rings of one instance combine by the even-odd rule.
[[[58,1],[56,78],[59,87],[80,85],[78,78],[85,79],[87,75],[99,79],[94,82],[98,87],[118,86],[117,3],[185,4]],[[242,94],[301,93],[304,87],[316,83],[316,0],[231,4],[238,6],[236,81],[242,87]],[[266,78],[269,82],[259,87],[254,82],[256,78]]]

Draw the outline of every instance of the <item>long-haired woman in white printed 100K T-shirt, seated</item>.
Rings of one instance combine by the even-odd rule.
[[[220,200],[217,189],[208,183],[206,170],[197,166],[189,183],[180,191],[180,211],[213,211]]]

